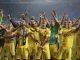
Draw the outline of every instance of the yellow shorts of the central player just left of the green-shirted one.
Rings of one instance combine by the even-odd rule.
[[[36,53],[36,59],[40,59],[41,55],[44,59],[50,59],[50,49],[49,49],[49,43],[46,43],[43,48],[37,47],[37,53]]]

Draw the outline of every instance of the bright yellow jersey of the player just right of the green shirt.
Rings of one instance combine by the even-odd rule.
[[[72,47],[73,46],[73,41],[74,41],[74,32],[73,31],[74,28],[72,29],[66,29],[66,28],[62,28],[60,30],[60,41],[62,46],[64,47]]]

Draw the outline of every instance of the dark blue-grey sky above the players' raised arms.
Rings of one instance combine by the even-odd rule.
[[[80,0],[0,0],[0,8],[4,10],[5,15],[11,14],[15,19],[19,19],[25,10],[28,11],[28,19],[32,15],[37,19],[41,9],[46,11],[48,18],[51,18],[53,8],[59,18],[63,11],[67,12],[70,18],[80,16]]]

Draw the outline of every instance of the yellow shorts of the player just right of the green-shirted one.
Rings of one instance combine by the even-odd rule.
[[[71,47],[61,47],[58,53],[58,59],[72,60],[72,48]]]

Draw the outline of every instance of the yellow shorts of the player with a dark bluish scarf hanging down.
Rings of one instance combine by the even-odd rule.
[[[28,48],[20,46],[16,48],[16,59],[28,59]]]

